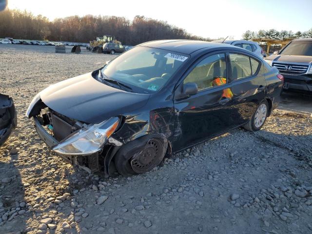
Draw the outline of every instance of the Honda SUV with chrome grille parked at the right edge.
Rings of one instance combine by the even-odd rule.
[[[265,60],[284,76],[284,90],[312,93],[312,38],[294,39]]]

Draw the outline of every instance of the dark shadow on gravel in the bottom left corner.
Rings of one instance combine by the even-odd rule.
[[[0,161],[0,233],[22,233],[26,228],[26,212],[19,170],[14,162]]]

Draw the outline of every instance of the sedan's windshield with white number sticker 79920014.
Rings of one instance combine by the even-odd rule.
[[[160,90],[188,57],[176,52],[137,46],[109,62],[101,70],[102,78],[118,81],[134,92]]]

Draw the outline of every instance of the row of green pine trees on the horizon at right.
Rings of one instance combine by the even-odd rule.
[[[242,35],[242,39],[244,40],[259,39],[259,38],[281,39],[281,40],[287,38],[312,38],[312,28],[306,32],[298,31],[296,33],[286,30],[277,31],[275,29],[259,30],[258,32],[247,30]]]

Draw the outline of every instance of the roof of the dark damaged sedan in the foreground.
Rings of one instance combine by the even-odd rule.
[[[176,51],[182,54],[192,54],[197,50],[204,48],[227,47],[229,45],[202,41],[202,40],[154,40],[140,45],[154,47],[159,49]]]

